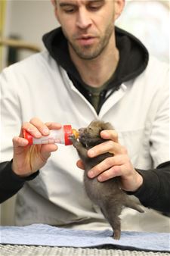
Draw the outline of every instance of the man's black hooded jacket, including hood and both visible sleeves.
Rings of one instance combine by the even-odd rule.
[[[61,28],[45,34],[43,42],[54,60],[66,70],[74,86],[91,102],[89,86],[82,81],[71,61],[67,41]],[[107,88],[100,92],[97,113],[107,99],[107,90],[110,90],[110,94],[112,94],[119,89],[123,82],[137,77],[147,67],[149,59],[147,49],[134,36],[117,27],[116,47],[119,49],[119,64],[113,79],[107,84]],[[0,203],[17,193],[26,180],[32,180],[39,174],[37,171],[31,176],[21,178],[11,170],[11,163],[12,161],[8,161],[0,164]],[[137,196],[144,206],[168,215],[170,213],[170,162],[162,163],[154,170],[138,170],[138,172],[143,176],[144,182],[138,191],[128,192],[128,194]]]

